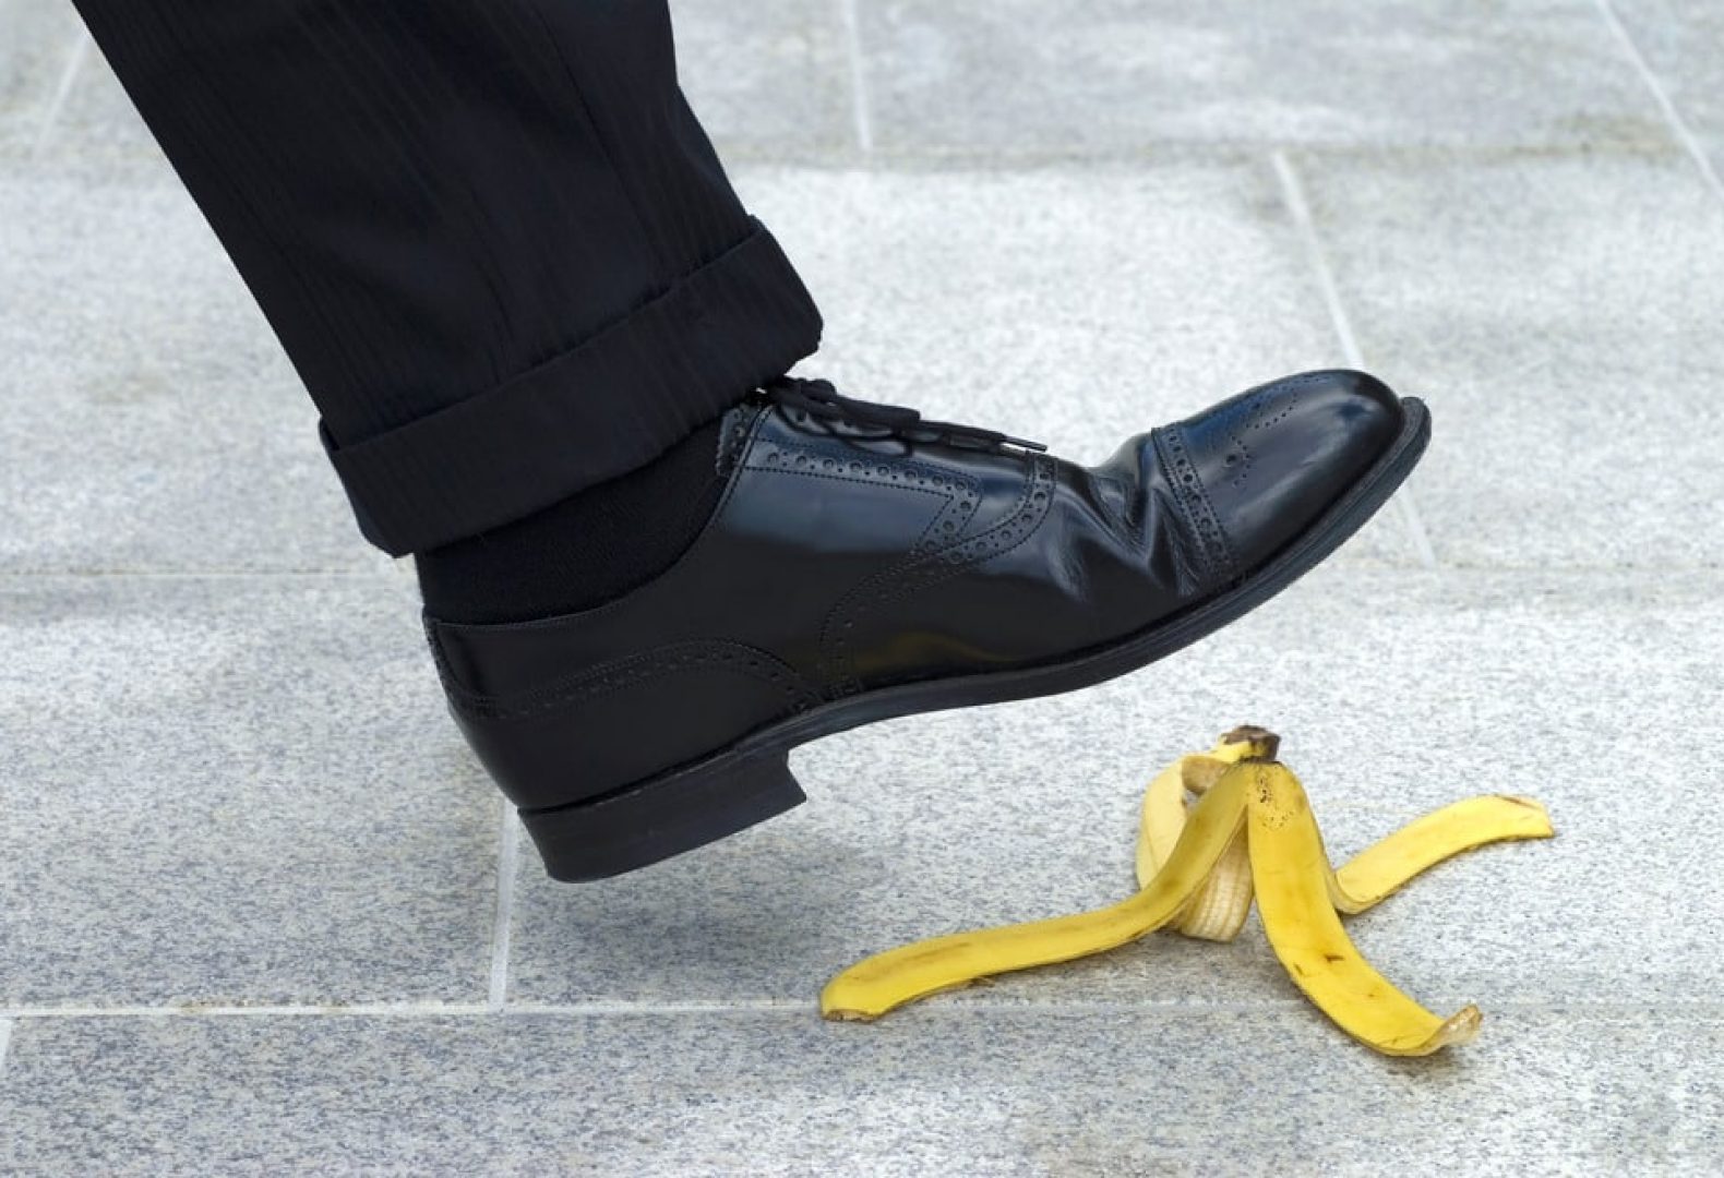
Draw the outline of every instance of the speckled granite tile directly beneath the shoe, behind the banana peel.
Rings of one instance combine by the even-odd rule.
[[[1355,921],[1433,1004],[1684,999],[1715,980],[1724,899],[1695,887],[1724,825],[1724,601],[1710,577],[1390,574],[1326,567],[1138,675],[917,716],[793,756],[810,804],[581,887],[526,849],[512,995],[810,999],[852,961],[1124,897],[1143,785],[1241,722],[1286,737],[1341,858],[1483,792],[1543,799],[1553,842],[1450,863]],[[1293,994],[1255,928],[1157,937],[941,1004],[1253,1002]]]

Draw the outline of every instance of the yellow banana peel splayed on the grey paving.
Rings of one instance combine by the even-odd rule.
[[[1448,1018],[1419,1006],[1364,959],[1340,913],[1365,911],[1462,851],[1552,837],[1545,808],[1527,797],[1471,797],[1333,870],[1310,799],[1277,753],[1272,732],[1243,727],[1159,773],[1143,797],[1140,890],[1131,899],[876,954],[828,983],[821,1013],[867,1021],[929,994],[1107,952],[1162,928],[1231,940],[1255,902],[1293,983],[1348,1035],[1388,1056],[1427,1056],[1471,1040],[1481,1021],[1476,1006]]]

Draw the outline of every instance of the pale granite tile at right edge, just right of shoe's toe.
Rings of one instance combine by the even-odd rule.
[[[1724,205],[1686,158],[1300,167],[1367,363],[1431,403],[1440,560],[1724,565]]]

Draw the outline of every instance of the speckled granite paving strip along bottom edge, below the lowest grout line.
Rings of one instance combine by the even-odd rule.
[[[26,1021],[9,1171],[1715,1173],[1724,1016],[1507,1011],[1388,1061],[1300,1008]]]

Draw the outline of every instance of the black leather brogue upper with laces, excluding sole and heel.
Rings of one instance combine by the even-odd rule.
[[[664,575],[567,617],[428,632],[498,784],[564,804],[826,701],[1143,630],[1272,556],[1398,424],[1372,377],[1315,372],[1091,468],[790,381],[733,412],[724,496]],[[643,741],[643,718],[667,722]],[[522,751],[536,727],[578,770],[547,777]]]

